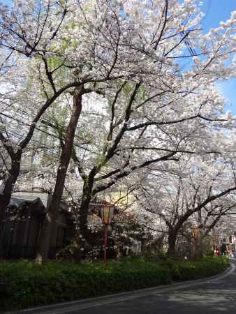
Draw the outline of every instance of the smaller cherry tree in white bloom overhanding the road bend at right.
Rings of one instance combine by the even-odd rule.
[[[235,170],[219,156],[213,160],[191,157],[169,168],[166,175],[163,170],[152,170],[148,178],[154,184],[140,185],[139,200],[166,225],[168,253],[175,255],[184,224],[190,223],[186,226],[190,232],[191,227],[202,230],[203,239],[224,216],[235,211]],[[156,179],[155,184],[156,176],[161,180]]]

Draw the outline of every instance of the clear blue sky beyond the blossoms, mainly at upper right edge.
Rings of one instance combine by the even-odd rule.
[[[9,4],[11,0],[1,2]],[[202,29],[207,32],[212,27],[218,27],[219,22],[228,20],[230,12],[236,10],[236,0],[202,0],[202,10],[206,13],[202,21]],[[228,99],[228,109],[236,114],[236,79],[220,82],[219,87]]]

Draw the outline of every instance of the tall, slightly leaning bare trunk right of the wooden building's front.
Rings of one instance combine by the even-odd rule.
[[[78,120],[80,118],[80,112],[82,110],[82,94],[83,87],[81,87],[80,89],[75,89],[73,95],[73,110],[71,114],[71,119],[66,128],[66,138],[64,140],[64,145],[62,147],[61,156],[59,160],[59,167],[57,170],[57,179],[54,187],[54,193],[52,195],[52,201],[50,203],[50,207],[47,210],[47,215],[45,216],[42,232],[40,234],[36,260],[43,261],[47,259],[48,256],[52,225],[54,225],[54,223],[57,223],[59,206],[61,202],[62,193],[64,190],[64,184],[66,181],[66,172],[71,160],[75,130],[78,124]]]

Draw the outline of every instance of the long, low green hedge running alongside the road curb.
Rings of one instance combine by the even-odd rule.
[[[165,263],[165,264],[164,264]],[[0,278],[7,283],[0,294],[0,308],[26,308],[85,297],[142,289],[219,274],[228,260],[205,257],[196,262],[147,262],[126,259],[122,262],[72,264],[47,262],[1,262]]]

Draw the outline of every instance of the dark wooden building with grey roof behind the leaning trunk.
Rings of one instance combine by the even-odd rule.
[[[2,225],[5,232],[0,257],[36,257],[43,220],[51,198],[51,195],[40,192],[14,193],[8,206],[7,219]],[[69,243],[74,231],[73,216],[66,203],[61,202],[57,223],[54,224],[50,237],[50,258]]]

